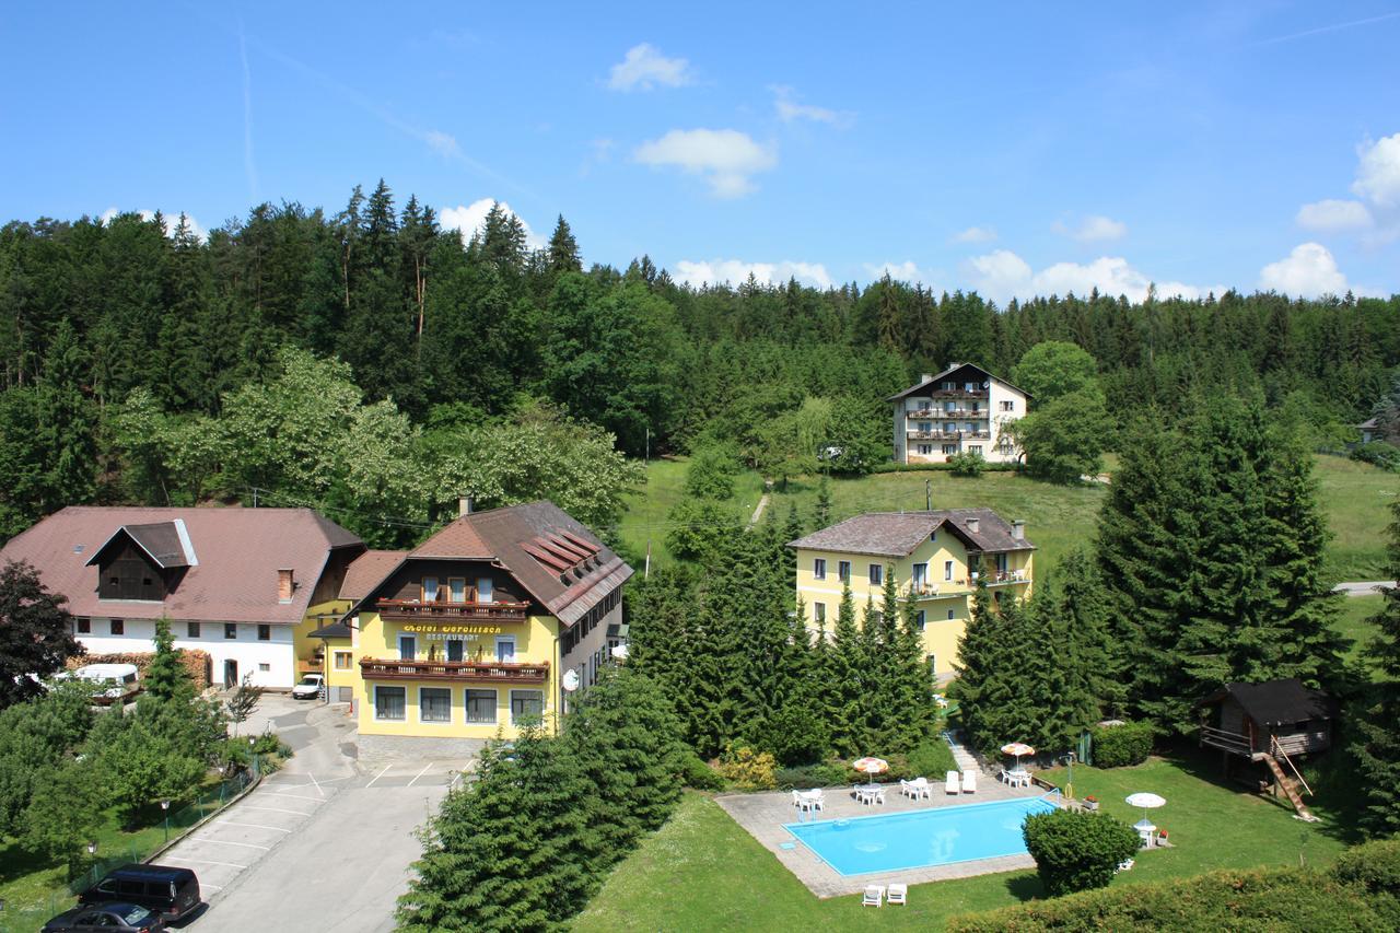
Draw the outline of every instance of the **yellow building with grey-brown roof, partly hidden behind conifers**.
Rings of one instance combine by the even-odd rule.
[[[958,642],[972,615],[974,573],[987,574],[993,598],[1030,595],[1035,545],[1025,523],[1008,523],[990,509],[875,511],[847,518],[788,542],[797,551],[797,594],[808,628],[836,625],[841,590],[850,583],[855,615],[881,604],[893,566],[900,597],[914,600],[930,671],[946,679]],[[980,562],[981,570],[970,570]]]

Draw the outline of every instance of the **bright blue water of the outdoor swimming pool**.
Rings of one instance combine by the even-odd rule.
[[[1029,814],[1054,808],[1049,800],[1032,797],[784,828],[841,874],[868,874],[1025,855],[1021,824]]]

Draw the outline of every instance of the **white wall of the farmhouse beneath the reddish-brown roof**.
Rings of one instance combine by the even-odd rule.
[[[155,621],[154,619],[126,619],[125,635],[111,635],[111,619],[94,618],[91,632],[74,635],[91,654],[154,651]],[[270,689],[291,689],[297,682],[297,658],[293,646],[293,626],[270,625],[270,639],[258,640],[258,625],[252,622],[238,623],[238,637],[224,637],[223,622],[200,622],[199,637],[189,637],[189,628],[185,622],[171,622],[171,635],[175,636],[175,647],[199,649],[207,651],[213,658],[210,678],[216,686],[224,684],[224,661],[232,658],[238,663],[238,677],[252,674],[256,686]],[[263,671],[260,665],[266,664]]]

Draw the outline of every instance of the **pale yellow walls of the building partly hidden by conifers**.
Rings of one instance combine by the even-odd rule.
[[[819,574],[818,562],[825,560],[825,574]],[[1002,566],[998,566],[998,560]],[[1004,555],[986,555],[988,590],[1002,591],[1004,598],[1028,598],[1033,577],[1032,551],[1014,551]],[[806,614],[808,628],[816,632],[823,628],[827,635],[836,626],[836,614],[841,605],[841,565],[850,566],[851,598],[855,604],[855,618],[865,616],[865,605],[872,601],[878,609],[885,595],[883,574],[895,567],[902,600],[910,597],[916,609],[924,612],[924,654],[930,658],[934,675],[953,672],[958,661],[958,642],[967,628],[972,615],[972,600],[977,590],[976,580],[969,577],[967,548],[951,531],[938,530],[932,539],[925,538],[904,558],[890,558],[868,553],[839,551],[797,549],[797,594]],[[914,591],[914,565],[924,565],[923,586]],[[879,569],[879,583],[872,581],[871,567]]]

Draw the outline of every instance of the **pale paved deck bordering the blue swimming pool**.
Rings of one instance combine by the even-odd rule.
[[[934,786],[931,800],[911,800],[899,793],[899,785],[895,783],[885,787],[883,807],[867,807],[855,803],[850,787],[836,787],[826,790],[826,810],[816,814],[816,820],[850,820],[853,817],[874,817],[886,813],[909,813],[913,810],[991,803],[994,800],[1021,800],[1040,797],[1044,793],[1042,787],[1008,787],[995,778],[979,775],[977,793],[958,794],[955,797],[945,794],[944,782],[938,782]],[[819,898],[861,894],[865,891],[867,884],[927,884],[930,881],[970,878],[977,874],[1036,867],[1035,859],[1030,856],[1016,855],[937,864],[927,869],[844,876],[822,862],[815,852],[797,842],[792,834],[783,828],[784,824],[798,822],[798,811],[792,806],[791,793],[720,794],[714,801],[724,807],[725,813],[734,817],[735,822],[748,829],[750,836],[777,856],[777,860],[795,874],[806,885],[808,891]],[[781,843],[784,842],[797,842],[797,846],[783,849]]]

